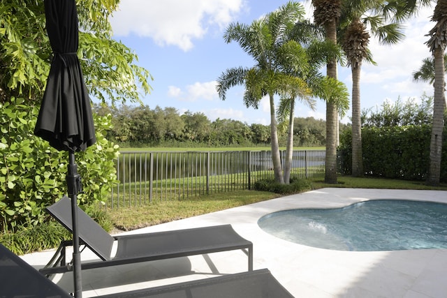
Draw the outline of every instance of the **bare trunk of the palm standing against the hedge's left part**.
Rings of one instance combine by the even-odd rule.
[[[363,176],[362,122],[360,120],[360,65],[351,66],[352,72],[352,176]]]

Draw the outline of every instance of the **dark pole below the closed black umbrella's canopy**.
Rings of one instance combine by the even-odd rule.
[[[75,297],[82,297],[81,254],[79,252],[78,232],[78,193],[80,192],[80,176],[78,165],[75,164],[75,153],[68,153],[67,186],[68,196],[71,198],[71,220],[73,223],[73,282]]]

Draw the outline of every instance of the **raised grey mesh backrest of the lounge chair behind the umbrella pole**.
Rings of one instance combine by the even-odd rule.
[[[71,199],[67,196],[61,198],[50,207],[47,212],[64,225],[64,227],[73,232],[73,223],[71,221]],[[113,239],[108,232],[98,225],[90,216],[78,207],[78,233],[79,239],[87,245],[91,251],[94,251],[99,258],[110,260],[112,253]]]

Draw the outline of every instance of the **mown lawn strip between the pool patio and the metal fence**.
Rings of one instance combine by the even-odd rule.
[[[309,181],[312,189],[325,187],[344,188],[390,188],[390,189],[434,189],[447,191],[447,184],[439,187],[426,186],[423,181],[394,179],[339,177],[338,184],[325,184],[321,179]],[[309,189],[310,190],[310,189]],[[108,216],[118,230],[134,230],[149,225],[166,223],[200,214],[239,207],[264,200],[278,198],[277,193],[262,191],[230,191],[212,193],[184,200],[154,201],[140,207],[106,209]],[[112,231],[112,232],[117,232]]]

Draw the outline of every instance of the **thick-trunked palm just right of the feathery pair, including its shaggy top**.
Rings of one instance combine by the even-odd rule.
[[[325,29],[325,39],[337,45],[337,23],[342,12],[342,0],[312,0],[314,22]],[[328,77],[337,80],[337,59],[326,66]],[[337,183],[337,103],[326,100],[326,157],[325,182]]]

